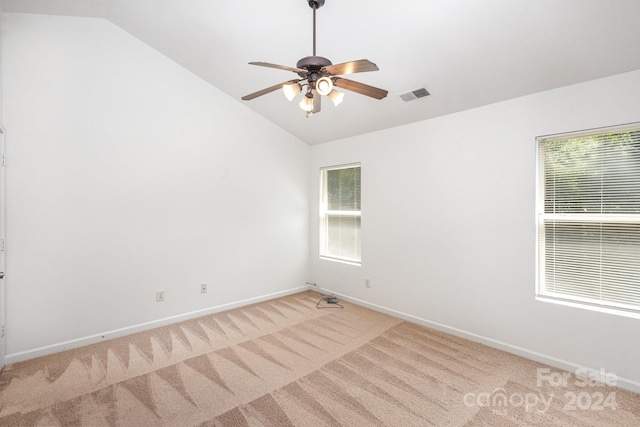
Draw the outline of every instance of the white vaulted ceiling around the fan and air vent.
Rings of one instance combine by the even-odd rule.
[[[307,0],[0,0],[3,12],[105,18],[308,144],[364,134],[640,69],[638,0],[326,0],[317,55],[369,59],[353,80],[389,91],[346,92],[305,118],[281,91],[312,52]],[[426,98],[400,94],[426,87]]]

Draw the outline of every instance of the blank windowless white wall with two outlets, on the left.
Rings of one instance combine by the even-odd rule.
[[[309,146],[105,20],[3,48],[7,362],[305,286]]]

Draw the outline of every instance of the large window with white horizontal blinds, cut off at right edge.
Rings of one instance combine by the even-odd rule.
[[[538,297],[640,313],[640,123],[537,141]]]

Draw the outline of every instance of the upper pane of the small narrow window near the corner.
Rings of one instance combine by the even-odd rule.
[[[332,211],[360,210],[360,167],[327,171],[327,207]]]

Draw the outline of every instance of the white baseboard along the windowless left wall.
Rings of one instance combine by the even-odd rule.
[[[71,350],[74,348],[95,344],[101,341],[106,341],[114,338],[120,338],[126,335],[135,334],[136,332],[143,332],[149,329],[154,329],[161,326],[167,326],[173,323],[182,322],[184,320],[190,320],[196,317],[218,313],[220,311],[231,310],[234,308],[243,307],[245,305],[267,301],[273,298],[296,294],[298,292],[306,291],[307,289],[308,289],[307,286],[300,286],[298,288],[288,289],[286,291],[274,292],[271,294],[266,294],[266,295],[262,295],[255,298],[248,298],[245,300],[240,300],[240,301],[231,302],[227,304],[221,304],[214,307],[208,307],[202,310],[196,310],[196,311],[191,311],[189,313],[178,314],[176,316],[165,317],[163,319],[153,320],[151,322],[140,323],[137,325],[127,326],[125,328],[120,328],[120,329],[114,329],[112,331],[102,332],[95,335],[89,335],[86,337],[64,341],[56,344],[51,344],[44,347],[38,347],[31,350],[21,351],[18,353],[11,353],[11,354],[5,355],[4,362],[5,362],[5,365],[10,365],[12,363],[35,359],[37,357],[48,356],[50,354],[59,353],[61,351]]]

